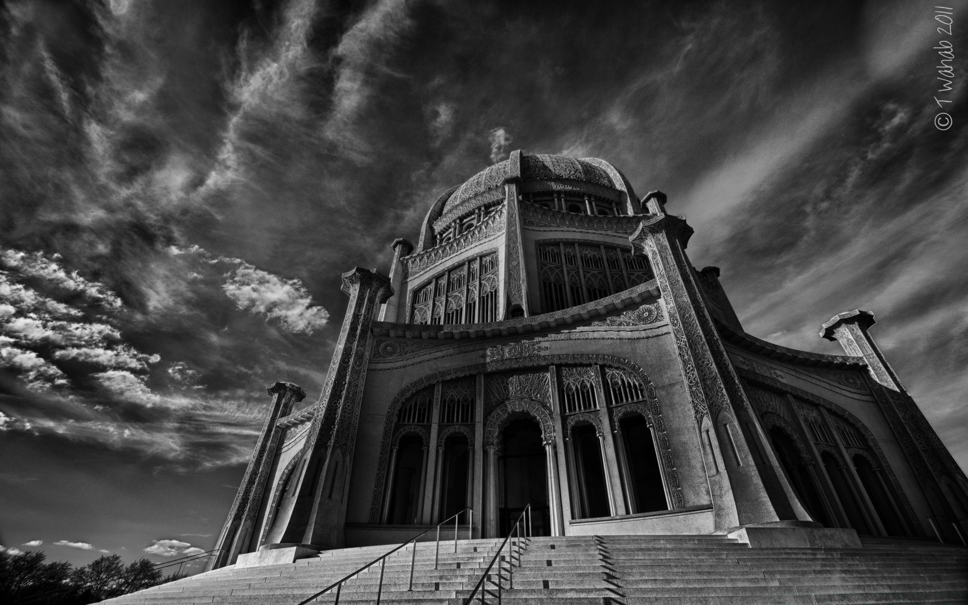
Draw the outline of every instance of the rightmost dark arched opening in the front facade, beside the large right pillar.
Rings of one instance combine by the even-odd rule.
[[[627,486],[632,496],[632,513],[668,510],[665,487],[662,485],[662,471],[655,457],[655,444],[649,424],[642,416],[635,415],[623,418],[619,426],[632,484]]]

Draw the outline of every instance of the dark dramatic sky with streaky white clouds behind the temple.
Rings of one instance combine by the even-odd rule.
[[[340,275],[514,149],[666,193],[757,337],[837,353],[872,311],[968,467],[968,3],[935,4],[0,3],[0,544],[212,548]]]

